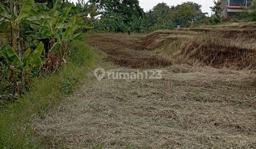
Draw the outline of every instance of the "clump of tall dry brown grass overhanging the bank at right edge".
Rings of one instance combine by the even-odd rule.
[[[238,40],[197,36],[182,43],[176,55],[183,62],[192,59],[213,67],[256,69],[256,49]]]

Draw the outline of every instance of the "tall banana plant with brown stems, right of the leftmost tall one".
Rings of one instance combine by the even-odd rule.
[[[78,7],[72,7],[69,4],[67,7],[60,10],[62,0],[57,0],[54,3],[52,10],[48,12],[49,15],[43,15],[38,7],[33,7],[30,11],[32,17],[28,17],[27,20],[33,21],[31,27],[38,31],[41,39],[50,38],[50,48],[48,58],[51,58],[53,62],[54,54],[51,54],[54,50],[58,53],[60,61],[64,59],[67,53],[63,46],[72,40],[85,40],[81,33],[74,34],[78,28],[94,28],[90,24],[76,23],[76,17],[69,16],[70,10],[78,10]],[[50,60],[50,59],[49,59]],[[58,62],[59,63],[59,62]],[[52,64],[50,64],[52,65]]]

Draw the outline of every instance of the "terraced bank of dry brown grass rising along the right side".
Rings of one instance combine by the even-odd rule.
[[[197,29],[188,30],[198,31]],[[256,46],[254,44],[256,32],[254,30],[215,32],[208,29],[197,34],[190,31],[154,32],[143,38],[140,46],[149,50],[165,48],[175,51],[171,58],[179,64],[196,62],[216,68],[256,69]],[[175,47],[169,45],[177,41],[180,45],[172,50],[171,48]]]

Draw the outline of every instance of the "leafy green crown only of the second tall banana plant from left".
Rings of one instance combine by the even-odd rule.
[[[27,19],[34,21],[34,23],[37,25],[31,24],[31,27],[41,33],[41,39],[56,38],[57,42],[59,42],[61,45],[63,45],[65,42],[70,42],[71,40],[84,40],[85,38],[81,36],[81,33],[79,35],[74,35],[74,32],[80,27],[93,28],[93,26],[89,24],[76,23],[75,16],[72,17],[68,23],[65,23],[68,13],[72,8],[72,4],[65,7],[63,12],[59,14],[57,11],[59,9],[59,4],[57,4],[57,2],[54,5],[54,10],[50,11],[47,16],[41,15],[38,12],[38,8],[33,8],[33,12],[31,12],[31,14],[34,16]],[[63,29],[65,29],[64,33]]]

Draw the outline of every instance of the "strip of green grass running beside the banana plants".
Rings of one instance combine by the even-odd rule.
[[[37,147],[33,140],[33,117],[43,114],[58,105],[65,95],[70,94],[94,64],[90,47],[80,41],[70,45],[70,60],[58,74],[34,79],[23,97],[14,103],[5,104],[0,113],[0,147]]]

